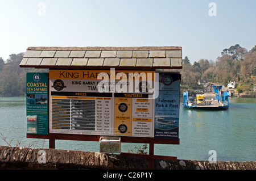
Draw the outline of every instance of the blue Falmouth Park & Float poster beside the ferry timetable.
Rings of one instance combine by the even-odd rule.
[[[155,99],[155,138],[179,138],[180,74],[159,73]]]

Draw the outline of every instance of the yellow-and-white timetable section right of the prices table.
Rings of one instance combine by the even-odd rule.
[[[153,102],[147,94],[115,94],[114,134],[152,137]]]

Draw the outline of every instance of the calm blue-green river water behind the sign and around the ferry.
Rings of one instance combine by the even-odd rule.
[[[256,99],[230,98],[222,111],[189,110],[180,103],[180,145],[155,145],[155,155],[177,159],[256,161]],[[0,98],[0,145],[48,148],[48,140],[26,138],[26,98]],[[143,144],[122,143],[122,152]],[[100,150],[98,142],[56,140],[56,149]],[[148,151],[148,150],[147,150]]]

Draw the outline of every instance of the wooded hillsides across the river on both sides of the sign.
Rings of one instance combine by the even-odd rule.
[[[181,86],[185,89],[199,88],[197,81],[207,78],[208,82],[218,82],[226,86],[229,81],[238,83],[238,92],[250,92],[256,85],[256,45],[249,51],[236,44],[225,48],[216,61],[201,59],[193,62],[187,56],[183,59]],[[24,53],[10,54],[4,61],[0,57],[0,96],[20,96],[26,94],[27,72],[48,72],[48,69],[20,68]]]

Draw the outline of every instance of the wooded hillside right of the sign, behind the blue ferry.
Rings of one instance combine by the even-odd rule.
[[[239,44],[225,48],[216,61],[201,59],[193,65],[188,57],[183,59],[181,85],[186,89],[199,88],[197,81],[207,78],[208,82],[227,86],[235,81],[238,92],[252,91],[256,85],[256,45],[249,51]]]

